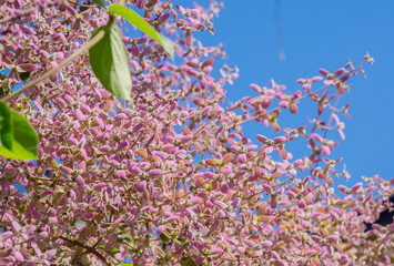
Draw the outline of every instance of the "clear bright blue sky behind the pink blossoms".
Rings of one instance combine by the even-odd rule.
[[[271,79],[300,90],[296,79],[316,75],[320,68],[335,71],[346,65],[347,58],[356,65],[370,52],[375,63],[365,66],[367,79],[353,78],[351,93],[341,100],[352,103],[352,119],[344,120],[346,140],[340,141],[333,156],[344,157],[352,175],[347,185],[360,182],[362,175],[394,177],[394,1],[228,0],[224,6],[214,19],[215,34],[198,38],[205,45],[224,43],[228,64],[240,68],[240,78],[226,86],[232,101],[255,95],[250,83],[269,85]],[[286,117],[282,127],[294,124],[294,115]],[[272,131],[255,123],[244,129],[251,137]],[[339,134],[329,137],[339,140]]]

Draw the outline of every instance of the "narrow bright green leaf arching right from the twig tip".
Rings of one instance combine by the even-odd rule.
[[[174,47],[172,45],[171,41],[156,32],[143,18],[141,18],[138,13],[135,13],[133,10],[120,6],[120,4],[112,4],[108,11],[110,13],[115,13],[122,16],[123,19],[127,19],[131,24],[135,25],[139,28],[142,32],[144,32],[147,35],[151,37],[153,40],[159,42],[168,52],[172,59],[174,60]]]

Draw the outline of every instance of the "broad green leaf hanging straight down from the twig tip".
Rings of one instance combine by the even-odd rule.
[[[97,29],[92,38],[103,29]],[[115,24],[89,50],[90,65],[105,90],[118,98],[131,100],[131,75],[124,43]]]

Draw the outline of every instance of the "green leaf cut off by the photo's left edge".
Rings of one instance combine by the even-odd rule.
[[[0,102],[0,155],[33,160],[37,158],[38,143],[38,136],[27,119]]]

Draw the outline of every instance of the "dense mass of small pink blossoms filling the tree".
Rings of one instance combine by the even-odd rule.
[[[55,68],[109,19],[94,1],[0,3],[1,86],[10,90]],[[348,116],[350,104],[341,108],[339,99],[370,57],[300,79],[295,92],[274,81],[251,84],[256,96],[228,105],[225,86],[239,70],[216,65],[226,58],[223,45],[194,38],[214,32],[222,3],[125,4],[173,40],[178,59],[123,25],[131,101],[105,91],[84,54],[9,102],[40,145],[37,161],[0,160],[0,264],[394,262],[394,225],[364,226],[388,207],[394,181],[365,177],[366,185],[335,191],[348,173],[342,158],[330,157],[337,142],[327,133],[344,139]],[[282,130],[281,115],[297,115],[304,99],[315,104],[312,124]],[[266,129],[246,136],[245,123]],[[305,142],[310,154],[296,157],[290,142]]]

